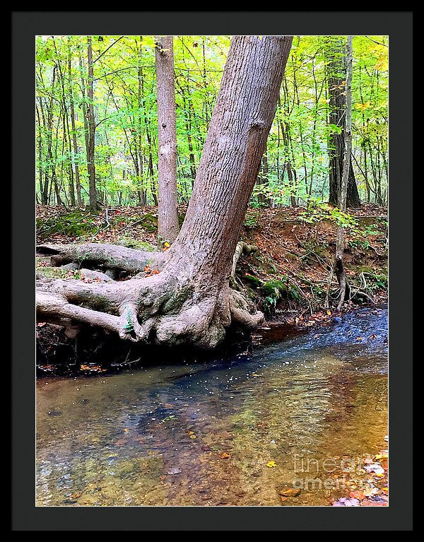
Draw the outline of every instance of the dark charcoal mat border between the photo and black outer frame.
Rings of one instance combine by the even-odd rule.
[[[12,11],[11,529],[412,529],[411,11]],[[389,507],[35,507],[35,35],[389,35]]]

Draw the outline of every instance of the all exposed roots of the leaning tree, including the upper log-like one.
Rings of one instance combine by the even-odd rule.
[[[184,266],[175,273],[175,262],[166,265],[166,252],[123,248],[95,244],[37,247],[39,254],[51,254],[55,265],[76,261],[100,269],[140,272],[120,282],[86,269],[80,269],[80,274],[102,283],[39,278],[37,319],[72,329],[82,322],[146,344],[215,348],[230,324],[253,329],[263,318],[261,312],[250,314],[245,298],[228,284],[211,283],[205,288],[184,272]],[[148,264],[163,271],[142,278]]]

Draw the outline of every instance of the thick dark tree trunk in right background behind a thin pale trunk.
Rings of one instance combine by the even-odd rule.
[[[330,100],[329,124],[341,128],[341,134],[332,131],[329,136],[329,204],[338,205],[345,148],[343,131],[346,127],[346,48],[344,41],[339,37],[328,37],[326,44],[328,54],[326,71]],[[360,207],[351,157],[349,157],[346,206]]]

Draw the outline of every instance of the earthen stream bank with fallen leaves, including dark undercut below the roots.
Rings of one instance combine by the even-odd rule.
[[[180,221],[185,208],[179,208]],[[236,287],[243,290],[266,323],[285,335],[302,334],[340,317],[332,307],[324,309],[329,269],[334,257],[337,214],[330,206],[305,208],[249,208],[242,240],[258,247],[237,266]],[[63,206],[37,206],[37,243],[116,243],[129,248],[155,249],[157,208],[108,208],[93,214]],[[346,267],[355,288],[362,288],[378,303],[387,302],[387,210],[363,205],[351,211],[347,231]],[[49,257],[37,256],[37,273],[47,277],[90,278],[74,270],[52,267]],[[360,296],[345,303],[343,312],[363,305]],[[256,341],[257,332],[253,336]],[[37,374],[98,374],[132,367],[146,355],[131,344],[119,344],[102,331],[66,337],[60,326],[37,324]],[[223,355],[251,348],[249,338],[237,329],[229,334]],[[153,354],[155,355],[155,354]],[[162,357],[170,355],[165,350]],[[179,355],[174,353],[173,355]],[[187,353],[182,353],[187,357]],[[196,354],[190,354],[196,357]],[[179,355],[181,357],[181,355]],[[207,355],[206,355],[207,356]]]

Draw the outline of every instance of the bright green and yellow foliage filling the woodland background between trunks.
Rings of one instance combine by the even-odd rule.
[[[307,205],[311,198],[326,199],[329,135],[341,133],[340,126],[328,122],[326,84],[329,57],[338,54],[337,39],[345,38],[294,37],[252,206],[290,205],[293,199]],[[387,36],[353,40],[353,167],[362,198],[377,203],[387,196],[387,43]],[[174,37],[177,187],[183,203],[192,194],[229,45],[230,36],[225,35]],[[108,205],[136,205],[142,199],[154,204],[158,119],[153,36],[93,36],[93,58],[98,59],[93,87],[100,198]],[[78,166],[81,194],[87,200],[83,111],[88,97],[81,81],[87,78],[87,38],[37,36],[35,69],[38,199],[42,201],[41,188],[47,182],[49,204],[58,203],[58,192],[69,205],[71,175],[75,184]],[[336,75],[343,78],[343,70]],[[68,124],[63,122],[65,107]],[[76,150],[70,144],[73,136]]]

